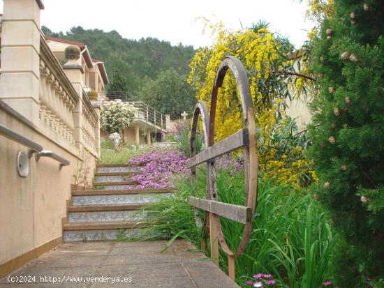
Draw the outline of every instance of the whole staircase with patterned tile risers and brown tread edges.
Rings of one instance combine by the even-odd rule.
[[[73,190],[63,220],[64,241],[115,240],[117,234],[132,236],[146,215],[136,213],[156,201],[155,195],[172,195],[168,189],[138,189],[131,176],[138,167],[97,165],[94,189]]]

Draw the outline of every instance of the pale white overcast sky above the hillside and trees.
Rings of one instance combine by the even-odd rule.
[[[223,21],[232,30],[266,20],[272,31],[288,36],[296,47],[302,45],[313,26],[304,21],[306,3],[299,0],[43,0],[41,24],[52,31],[85,29],[116,30],[124,38],[154,37],[172,45],[195,48],[210,45],[202,35],[196,17]],[[2,5],[1,5],[2,6]],[[2,8],[1,8],[2,10]]]

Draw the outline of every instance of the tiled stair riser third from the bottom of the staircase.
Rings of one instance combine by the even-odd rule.
[[[163,196],[172,197],[172,193],[161,193]],[[73,196],[73,206],[81,205],[101,205],[101,204],[131,204],[131,203],[149,203],[158,199],[157,195],[91,195],[91,196]]]

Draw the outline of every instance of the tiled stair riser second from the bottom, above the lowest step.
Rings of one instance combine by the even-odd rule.
[[[137,211],[97,211],[97,212],[70,212],[68,222],[124,222],[142,221],[147,219],[147,213]]]

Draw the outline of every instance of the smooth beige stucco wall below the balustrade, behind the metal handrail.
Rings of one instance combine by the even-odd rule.
[[[17,173],[17,153],[27,152],[27,147],[0,136],[2,264],[61,236],[61,218],[66,216],[66,199],[71,198],[76,163],[82,159],[3,109],[0,109],[0,123],[71,162],[71,165],[59,170],[59,163],[52,158],[40,158],[36,162],[32,157],[29,175],[22,178]],[[96,159],[93,156],[87,158],[91,171],[87,181],[91,181]]]

